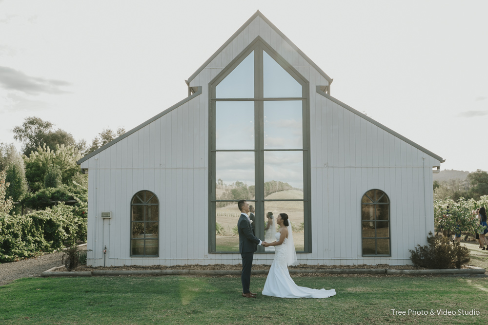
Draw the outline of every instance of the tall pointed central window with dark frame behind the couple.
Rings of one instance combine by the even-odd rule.
[[[255,207],[258,238],[267,213],[285,212],[295,248],[311,251],[307,94],[305,78],[261,41],[210,83],[210,252],[239,252],[241,199]]]

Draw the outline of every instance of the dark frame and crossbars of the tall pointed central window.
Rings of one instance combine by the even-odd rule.
[[[281,68],[291,75],[294,80],[301,86],[301,93],[298,97],[264,97],[264,67],[263,67],[263,53],[266,53],[271,59],[274,59]],[[254,96],[252,98],[222,98],[218,99],[216,95],[216,86],[224,80],[234,69],[241,64],[244,59],[249,55],[254,57]],[[254,205],[257,211],[265,211],[264,200],[264,153],[265,152],[289,152],[296,151],[293,149],[272,150],[264,148],[264,103],[266,101],[287,100],[287,101],[301,101],[301,119],[302,119],[302,142],[299,151],[302,152],[302,169],[303,169],[303,214],[304,214],[304,252],[310,253],[312,249],[311,245],[311,207],[310,207],[310,150],[309,150],[309,83],[298,71],[293,68],[288,62],[285,61],[274,49],[266,44],[261,37],[257,37],[252,41],[242,53],[233,59],[226,69],[221,71],[210,83],[209,83],[209,240],[208,251],[209,253],[224,253],[220,249],[216,249],[216,202],[219,202],[216,197],[216,153],[217,152],[253,152],[254,153],[254,166],[255,166],[255,198]],[[216,149],[216,106],[217,102],[222,101],[252,101],[254,102],[254,149],[253,150],[217,150]],[[252,201],[252,200],[251,200]],[[271,201],[288,201],[286,199],[270,200]],[[238,211],[236,211],[238,212]],[[285,211],[281,211],[285,212]],[[256,215],[256,222],[264,224],[264,213],[258,213]],[[264,238],[263,227],[257,227],[256,236]],[[258,252],[263,252],[262,247],[258,248]]]

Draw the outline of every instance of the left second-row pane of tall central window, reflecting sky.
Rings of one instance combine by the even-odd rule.
[[[215,103],[215,149],[254,149],[254,102]]]

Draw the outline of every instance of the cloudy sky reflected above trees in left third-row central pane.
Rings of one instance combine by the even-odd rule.
[[[253,152],[216,152],[215,180],[222,179],[230,185],[236,181],[248,186],[254,185],[254,153]]]

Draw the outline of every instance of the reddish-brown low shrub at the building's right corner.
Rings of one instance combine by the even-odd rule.
[[[470,260],[468,248],[458,242],[450,245],[448,237],[435,237],[431,231],[427,245],[417,245],[415,250],[409,251],[414,266],[429,269],[461,268]]]

